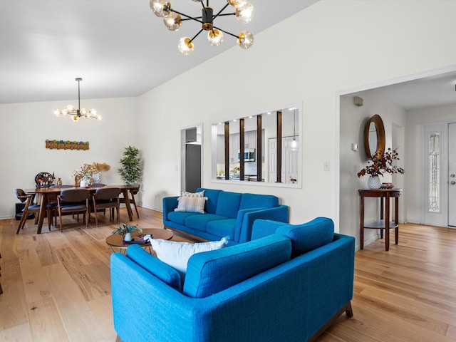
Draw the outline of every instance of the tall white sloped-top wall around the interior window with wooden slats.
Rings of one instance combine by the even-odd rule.
[[[148,163],[145,206],[161,209],[163,195],[179,194],[180,128],[202,122],[204,187],[274,194],[291,206],[291,222],[323,215],[335,219],[339,229],[336,94],[451,66],[456,46],[448,42],[454,39],[455,16],[455,1],[318,1],[257,34],[248,51],[234,46],[150,90],[140,99],[140,145]],[[210,123],[299,101],[304,108],[302,189],[211,182]],[[359,122],[352,129],[358,132]],[[323,172],[326,160],[330,172]],[[355,209],[356,198],[352,193]],[[354,217],[343,222],[341,232],[355,235]]]

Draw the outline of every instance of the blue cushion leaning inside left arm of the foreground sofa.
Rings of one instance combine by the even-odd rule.
[[[165,264],[165,262],[150,255],[150,253],[146,252],[145,249],[138,244],[132,244],[128,247],[127,257],[135,261],[136,264],[146,271],[149,271],[161,281],[170,285],[173,289],[182,292],[182,282],[180,280],[179,272]]]

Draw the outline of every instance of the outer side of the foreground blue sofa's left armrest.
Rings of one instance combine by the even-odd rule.
[[[171,335],[192,341],[192,299],[121,253],[111,254],[110,274],[114,328],[123,342],[173,341]]]

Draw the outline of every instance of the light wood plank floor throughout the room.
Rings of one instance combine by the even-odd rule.
[[[140,217],[162,228],[160,212]],[[99,218],[86,229],[64,217],[62,233],[43,234],[28,220],[19,235],[0,220],[0,341],[115,341],[105,237],[118,225]],[[318,341],[456,341],[456,229],[403,224],[389,252],[383,240],[356,252],[352,306]]]

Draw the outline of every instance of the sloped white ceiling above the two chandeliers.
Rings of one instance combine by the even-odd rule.
[[[249,24],[234,16],[214,23],[255,36],[316,1],[250,0],[255,14]],[[170,2],[176,11],[201,15],[195,1]],[[227,2],[209,4],[217,13]],[[168,31],[148,0],[0,0],[0,103],[77,98],[76,77],[83,78],[81,99],[137,96],[228,48],[239,48],[226,34],[221,46],[210,46],[202,33],[193,54],[182,56],[179,38],[191,38],[200,28],[185,21],[180,31]]]

